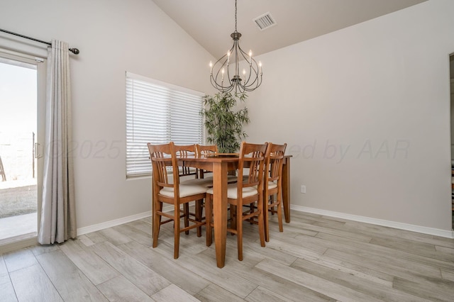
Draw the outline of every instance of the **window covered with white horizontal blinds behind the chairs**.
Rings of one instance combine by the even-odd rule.
[[[126,177],[149,175],[147,143],[203,142],[204,94],[126,72]]]

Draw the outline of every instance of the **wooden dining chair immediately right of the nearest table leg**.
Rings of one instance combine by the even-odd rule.
[[[265,229],[263,220],[263,169],[265,166],[265,154],[267,150],[267,143],[265,144],[251,144],[248,142],[241,142],[239,160],[238,160],[238,179],[236,184],[228,184],[227,186],[227,201],[231,206],[231,220],[230,228],[227,228],[229,233],[237,235],[238,242],[238,259],[243,260],[243,221],[256,216],[258,218],[258,233],[260,237],[260,245],[265,247]],[[243,169],[248,167],[248,169]],[[245,174],[243,178],[243,173]],[[212,242],[212,200],[213,189],[210,188],[206,191],[205,198],[205,216],[206,216],[206,245],[211,245]],[[243,212],[243,205],[248,205],[257,201],[257,211]]]

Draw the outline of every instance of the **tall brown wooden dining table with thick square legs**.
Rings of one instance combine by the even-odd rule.
[[[290,222],[290,157],[284,156],[282,167],[282,203],[284,217]],[[187,156],[179,159],[179,164],[213,172],[213,218],[214,244],[216,250],[216,264],[219,268],[226,263],[227,240],[227,184],[228,172],[238,169],[239,157],[231,153],[216,153],[215,155]]]

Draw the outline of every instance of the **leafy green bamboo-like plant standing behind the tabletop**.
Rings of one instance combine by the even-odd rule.
[[[238,101],[244,102],[244,93],[218,92],[204,96],[204,109],[200,114],[205,118],[207,141],[218,146],[221,153],[234,153],[240,149],[240,142],[248,135],[243,124],[249,123],[248,108],[233,111]]]

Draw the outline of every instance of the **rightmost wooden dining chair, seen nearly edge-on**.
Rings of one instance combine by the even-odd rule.
[[[265,155],[265,179],[263,181],[263,211],[265,223],[265,241],[270,241],[270,213],[277,213],[279,232],[282,228],[282,166],[287,144],[268,143]],[[276,199],[274,196],[276,195]]]

